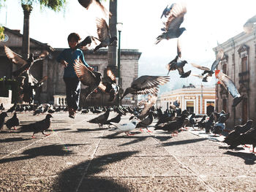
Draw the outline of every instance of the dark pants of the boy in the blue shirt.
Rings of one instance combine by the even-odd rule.
[[[66,84],[67,107],[78,110],[80,97],[80,81],[78,78],[63,77]]]

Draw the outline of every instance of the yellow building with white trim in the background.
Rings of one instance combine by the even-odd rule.
[[[206,114],[215,109],[215,88],[190,84],[184,88],[162,93],[157,100],[157,107],[166,110],[174,101],[178,101],[181,110]]]

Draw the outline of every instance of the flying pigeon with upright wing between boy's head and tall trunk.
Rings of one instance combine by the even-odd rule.
[[[107,47],[117,41],[117,37],[111,37],[110,29],[105,19],[97,18],[97,37],[91,37],[94,41],[97,39],[100,43],[94,48],[94,53],[101,47]]]

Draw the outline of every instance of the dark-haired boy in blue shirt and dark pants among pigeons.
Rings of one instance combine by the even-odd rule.
[[[69,118],[75,118],[80,97],[80,81],[74,70],[75,60],[80,59],[85,66],[87,66],[90,70],[93,70],[93,68],[86,64],[83,51],[77,48],[80,39],[80,36],[76,33],[69,34],[67,37],[69,48],[64,49],[57,58],[57,61],[60,62],[61,66],[64,67],[63,79],[66,84]]]

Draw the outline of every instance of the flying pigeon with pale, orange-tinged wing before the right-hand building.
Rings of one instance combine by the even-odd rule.
[[[219,83],[225,87],[228,93],[230,93],[231,96],[233,96],[233,104],[232,107],[236,107],[243,99],[244,96],[241,96],[238,92],[236,85],[234,82],[230,79],[230,77],[227,76],[227,74],[224,74],[222,72],[215,73],[217,79],[219,80]]]

